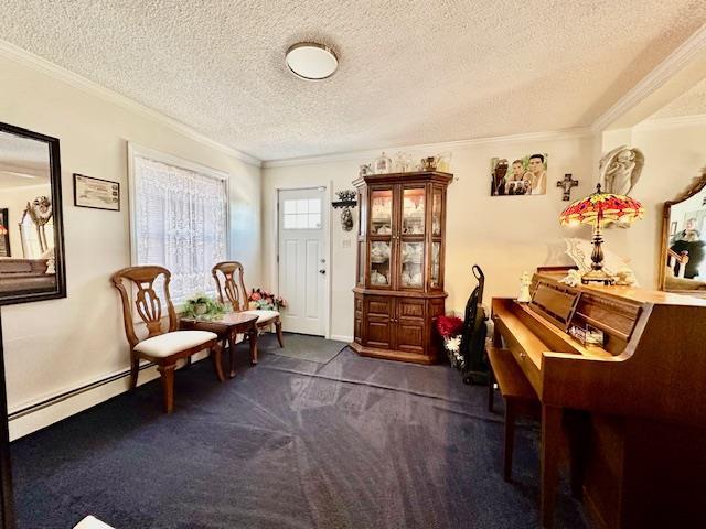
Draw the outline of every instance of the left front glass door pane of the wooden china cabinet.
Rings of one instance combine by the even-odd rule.
[[[371,287],[392,285],[393,196],[392,187],[371,191]]]

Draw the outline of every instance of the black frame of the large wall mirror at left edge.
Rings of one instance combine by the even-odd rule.
[[[13,134],[46,143],[49,147],[49,180],[51,186],[52,224],[51,236],[54,238],[55,281],[52,287],[34,290],[8,290],[0,292],[0,305],[29,303],[32,301],[66,298],[66,270],[64,264],[64,226],[62,215],[62,169],[60,161],[58,139],[40,134],[31,130],[0,122],[0,132]],[[49,236],[49,234],[47,234]]]

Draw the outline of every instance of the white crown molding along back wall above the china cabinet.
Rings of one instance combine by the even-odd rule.
[[[290,165],[311,165],[318,163],[343,162],[374,160],[379,156],[382,151],[425,151],[425,153],[443,152],[459,149],[467,149],[490,143],[516,143],[523,141],[549,141],[549,140],[569,140],[574,138],[584,138],[592,136],[593,132],[588,127],[577,127],[571,129],[550,130],[545,132],[530,132],[526,134],[495,136],[488,138],[474,138],[470,140],[446,141],[439,143],[422,143],[411,145],[393,145],[382,149],[368,149],[362,151],[346,151],[331,154],[321,154],[315,156],[288,158],[281,160],[266,160],[263,162],[264,169],[285,168]]]

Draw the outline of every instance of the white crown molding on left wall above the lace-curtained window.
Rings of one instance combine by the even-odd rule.
[[[49,75],[50,77],[71,85],[74,88],[78,88],[79,90],[83,90],[92,96],[96,96],[105,101],[118,105],[160,125],[167,126],[189,139],[197,141],[199,143],[207,145],[212,149],[216,149],[217,151],[236,158],[245,163],[255,165],[256,168],[263,166],[263,161],[250,154],[215,141],[174,118],[170,118],[169,116],[159,112],[150,107],[147,107],[140,102],[137,102],[136,100],[130,99],[127,96],[100,86],[99,84],[94,83],[93,80],[87,79],[82,75],[78,75],[62,66],[51,63],[45,58],[40,57],[39,55],[15,46],[12,43],[0,40],[0,56],[41,72],[45,75]]]

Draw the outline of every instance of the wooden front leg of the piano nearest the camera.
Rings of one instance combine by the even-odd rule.
[[[542,407],[542,490],[539,518],[543,528],[554,527],[554,506],[559,477],[561,449],[561,408]]]

